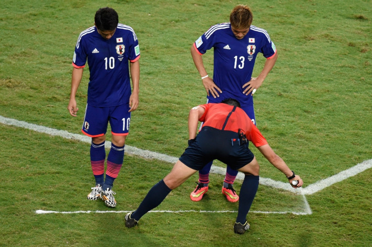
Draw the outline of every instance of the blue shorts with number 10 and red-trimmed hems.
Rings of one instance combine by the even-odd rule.
[[[129,133],[130,112],[129,104],[115,107],[93,107],[86,105],[85,116],[81,131],[90,137],[106,134],[108,123],[113,135]]]

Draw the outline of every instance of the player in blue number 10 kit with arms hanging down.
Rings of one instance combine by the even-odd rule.
[[[67,109],[71,116],[77,116],[75,96],[88,61],[90,77],[81,131],[91,137],[90,164],[96,185],[91,188],[87,199],[100,198],[108,207],[116,207],[113,196],[116,193],[112,191],[112,186],[123,164],[131,112],[138,107],[139,58],[140,47],[133,29],[120,24],[117,12],[108,7],[96,12],[95,26],[82,31],[75,46]],[[130,86],[129,75],[133,88]],[[108,123],[111,126],[112,143],[105,178]]]

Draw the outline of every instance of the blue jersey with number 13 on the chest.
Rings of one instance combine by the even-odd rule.
[[[222,90],[218,101],[236,98],[242,107],[253,105],[251,94],[243,94],[243,85],[251,80],[258,53],[265,58],[272,57],[275,45],[264,29],[250,26],[243,39],[237,39],[231,31],[230,23],[212,26],[195,41],[199,54],[205,54],[214,47],[213,81]],[[215,102],[212,95],[209,102]]]

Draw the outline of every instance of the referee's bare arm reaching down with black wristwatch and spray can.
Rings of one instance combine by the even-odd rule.
[[[265,156],[265,158],[274,167],[276,167],[276,169],[283,172],[286,175],[287,178],[291,177],[293,175],[293,172],[291,171],[291,169],[289,169],[287,164],[284,162],[284,160],[280,156],[275,154],[275,152],[271,149],[269,144],[265,144],[265,145],[262,145],[262,146],[257,146],[257,149],[263,154],[263,156]],[[298,181],[298,184],[296,186],[292,184],[293,180]],[[302,186],[303,181],[302,181],[302,179],[299,175],[295,175],[294,178],[289,179],[289,183],[291,184],[292,187],[297,188],[297,187]]]

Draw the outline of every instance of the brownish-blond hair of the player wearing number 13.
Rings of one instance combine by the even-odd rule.
[[[231,26],[236,29],[249,28],[253,21],[251,9],[246,5],[238,5],[230,13]]]

